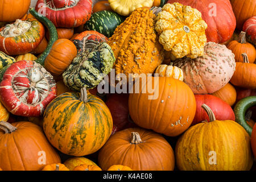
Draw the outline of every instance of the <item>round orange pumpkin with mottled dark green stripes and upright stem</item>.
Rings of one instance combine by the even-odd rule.
[[[111,113],[100,98],[81,89],[56,97],[44,111],[43,129],[49,142],[67,155],[99,150],[112,133]]]

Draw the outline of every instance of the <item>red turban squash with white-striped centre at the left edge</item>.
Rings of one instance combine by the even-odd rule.
[[[53,77],[42,65],[35,61],[18,61],[3,75],[0,100],[10,113],[38,117],[56,97],[55,85]]]

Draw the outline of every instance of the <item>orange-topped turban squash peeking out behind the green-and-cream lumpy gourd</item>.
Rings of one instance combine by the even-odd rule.
[[[77,52],[84,52],[85,49],[91,49],[94,46],[94,42],[107,42],[109,39],[96,31],[84,31],[72,39],[75,44]],[[85,47],[86,46],[86,47]]]

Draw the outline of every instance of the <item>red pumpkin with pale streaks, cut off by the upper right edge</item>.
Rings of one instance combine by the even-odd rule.
[[[256,46],[256,16],[246,20],[243,24],[243,31],[246,32],[249,42]]]

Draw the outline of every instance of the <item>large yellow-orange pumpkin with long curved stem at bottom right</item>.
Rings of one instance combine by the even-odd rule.
[[[250,170],[253,155],[250,136],[232,120],[218,121],[207,105],[210,122],[189,127],[177,140],[175,157],[182,171]]]

